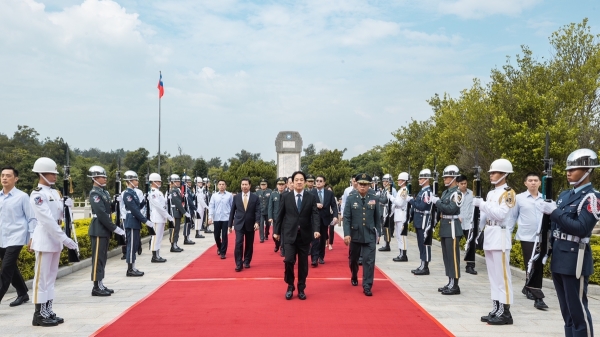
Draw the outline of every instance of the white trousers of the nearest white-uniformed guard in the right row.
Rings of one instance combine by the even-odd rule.
[[[492,300],[503,304],[513,302],[512,278],[510,275],[510,250],[486,250],[485,264],[488,269]]]

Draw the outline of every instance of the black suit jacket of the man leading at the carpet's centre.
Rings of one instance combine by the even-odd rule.
[[[318,200],[316,195],[304,191],[302,208],[298,212],[296,191],[283,194],[273,233],[283,236],[286,243],[294,243],[298,236],[298,226],[300,226],[302,242],[309,244],[314,239],[314,233],[319,232]]]

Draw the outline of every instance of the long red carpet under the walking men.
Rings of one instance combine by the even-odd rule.
[[[209,248],[96,336],[452,336],[379,269],[373,297],[350,285],[348,248],[336,237],[326,263],[310,268],[306,301],[284,297],[283,262],[256,235],[250,269],[235,272],[235,234],[227,259]]]

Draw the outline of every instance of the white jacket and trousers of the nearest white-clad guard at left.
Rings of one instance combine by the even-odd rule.
[[[63,219],[63,202],[55,189],[39,184],[29,197],[37,226],[33,231],[31,249],[35,251],[33,303],[54,299],[54,283],[63,242],[70,240],[59,223]]]

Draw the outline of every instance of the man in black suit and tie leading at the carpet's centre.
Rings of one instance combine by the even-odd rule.
[[[308,251],[313,238],[318,239],[319,213],[318,198],[304,191],[305,175],[301,171],[292,174],[294,189],[282,196],[279,215],[275,221],[274,240],[283,235],[285,250],[285,277],[288,284],[285,298],[292,299],[294,287],[294,265],[298,256],[298,298],[306,299],[306,277],[308,276]]]

